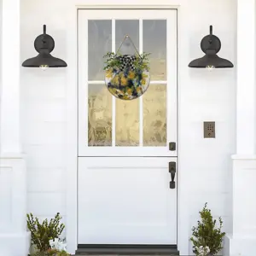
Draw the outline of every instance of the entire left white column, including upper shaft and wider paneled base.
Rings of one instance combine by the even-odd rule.
[[[1,95],[0,95],[0,255],[29,253],[30,232],[26,231],[26,161],[20,154],[20,0],[1,0]],[[5,179],[8,177],[7,179]],[[1,193],[0,193],[1,194]],[[3,203],[3,204],[2,204]]]

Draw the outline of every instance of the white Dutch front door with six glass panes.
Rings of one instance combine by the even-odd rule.
[[[104,59],[128,34],[149,52],[151,82],[123,101]],[[79,244],[177,244],[177,10],[79,9]],[[128,41],[129,42],[129,41]],[[131,44],[121,48],[134,53]]]

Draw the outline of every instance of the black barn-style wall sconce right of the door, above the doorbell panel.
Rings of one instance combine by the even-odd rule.
[[[218,57],[218,51],[221,48],[221,42],[218,37],[212,35],[212,26],[210,26],[210,34],[201,40],[201,50],[206,54],[202,58],[195,59],[189,63],[189,67],[197,68],[225,68],[234,67],[234,65],[226,60]]]

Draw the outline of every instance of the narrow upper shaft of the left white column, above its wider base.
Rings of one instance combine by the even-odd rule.
[[[1,152],[20,153],[20,0],[2,10]]]

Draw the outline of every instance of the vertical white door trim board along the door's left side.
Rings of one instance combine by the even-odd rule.
[[[78,245],[78,9],[67,16],[67,251],[74,254]],[[63,84],[64,85],[64,84]]]

